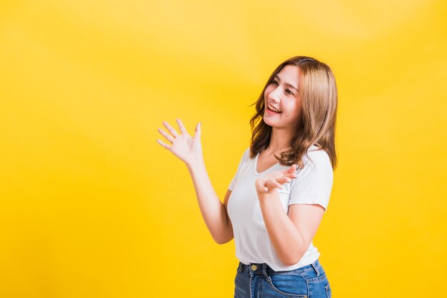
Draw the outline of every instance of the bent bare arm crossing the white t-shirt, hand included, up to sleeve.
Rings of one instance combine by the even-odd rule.
[[[288,214],[281,205],[277,188],[293,178],[294,166],[256,180],[256,192],[271,244],[285,266],[301,260],[323,218],[324,208],[317,204],[293,204]]]

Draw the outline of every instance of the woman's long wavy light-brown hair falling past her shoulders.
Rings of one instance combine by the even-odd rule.
[[[301,80],[298,90],[301,93],[301,119],[296,123],[296,130],[290,140],[290,150],[275,156],[281,165],[297,164],[303,168],[303,155],[308,148],[316,145],[325,150],[331,159],[333,170],[337,166],[335,147],[335,128],[337,113],[337,88],[331,68],[315,58],[295,56],[288,58],[271,73],[261,96],[250,106],[256,105],[256,113],[250,120],[251,142],[250,158],[268,148],[271,138],[271,126],[263,120],[265,109],[264,92],[276,74],[286,65],[298,66]],[[308,155],[307,155],[308,156]]]

